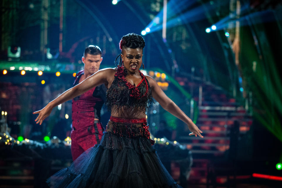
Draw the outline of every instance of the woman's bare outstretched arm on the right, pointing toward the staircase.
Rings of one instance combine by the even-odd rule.
[[[160,103],[162,108],[186,123],[191,131],[189,135],[199,135],[200,137],[203,137],[201,135],[202,131],[199,130],[197,125],[195,125],[193,121],[163,92],[156,80],[150,76],[146,76],[146,78],[150,83],[153,98]]]

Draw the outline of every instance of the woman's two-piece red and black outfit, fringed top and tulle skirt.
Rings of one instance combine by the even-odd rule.
[[[118,67],[105,105],[113,111],[147,111],[153,98],[148,80],[140,75],[140,84],[131,85],[123,68]],[[153,143],[146,118],[111,116],[100,144],[86,150],[70,167],[48,178],[47,183],[60,188],[181,187],[164,168]]]

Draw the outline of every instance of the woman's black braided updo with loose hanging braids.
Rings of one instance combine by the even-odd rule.
[[[144,38],[140,35],[137,35],[135,33],[128,33],[127,35],[123,36],[120,39],[120,50],[122,50],[123,47],[126,48],[144,48],[145,47],[145,41]],[[121,55],[121,53],[117,56],[117,58]],[[117,58],[115,58],[115,65],[117,66]],[[118,65],[122,66],[122,59],[120,56],[120,61]],[[144,64],[142,63],[143,69]]]

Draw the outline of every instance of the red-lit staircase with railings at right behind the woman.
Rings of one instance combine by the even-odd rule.
[[[196,125],[203,131],[204,138],[180,136],[179,142],[192,152],[193,166],[189,178],[190,184],[207,181],[207,167],[216,157],[227,158],[230,148],[230,136],[237,125],[238,136],[245,134],[252,125],[252,116],[244,106],[228,97],[221,88],[202,81],[183,83],[183,78],[176,78],[187,91],[192,91],[198,103]],[[232,132],[231,132],[232,131]]]

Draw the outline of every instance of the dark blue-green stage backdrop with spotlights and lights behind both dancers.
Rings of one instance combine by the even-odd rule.
[[[115,67],[127,33],[145,39],[143,73],[203,131],[190,137],[151,105],[172,177],[183,187],[281,187],[281,1],[2,0],[0,17],[0,187],[46,187],[70,165],[71,101],[42,125],[32,112],[72,87],[88,45],[100,46],[100,68]],[[105,126],[110,113],[101,115]]]

